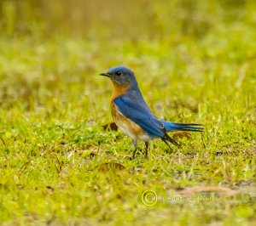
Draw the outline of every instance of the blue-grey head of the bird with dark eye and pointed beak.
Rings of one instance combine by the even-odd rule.
[[[108,76],[113,83],[118,85],[137,85],[134,73],[123,66],[112,67],[107,73],[101,73],[100,76]]]

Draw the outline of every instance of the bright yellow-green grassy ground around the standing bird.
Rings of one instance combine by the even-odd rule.
[[[0,37],[0,223],[255,224],[255,40],[244,23],[201,39]],[[102,127],[112,84],[97,74],[113,65],[156,116],[205,133],[130,160],[130,138]]]

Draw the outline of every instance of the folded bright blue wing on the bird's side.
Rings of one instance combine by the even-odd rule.
[[[119,96],[113,103],[123,116],[143,127],[149,135],[159,138],[166,136],[163,123],[153,116],[142,97]]]

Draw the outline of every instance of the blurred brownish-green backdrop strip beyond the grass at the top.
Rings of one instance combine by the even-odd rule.
[[[255,26],[255,1],[1,0],[1,35],[201,39],[221,25]],[[245,28],[244,28],[245,29]]]

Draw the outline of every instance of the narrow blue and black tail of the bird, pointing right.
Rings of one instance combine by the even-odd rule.
[[[191,132],[203,132],[204,127],[201,124],[194,123],[174,123],[172,121],[161,120],[166,127],[167,132],[175,131],[191,131]]]

